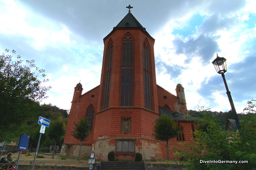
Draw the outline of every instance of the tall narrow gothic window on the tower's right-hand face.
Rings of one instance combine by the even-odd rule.
[[[152,110],[149,47],[146,40],[144,41],[144,44],[143,44],[143,68],[144,68],[144,100],[145,100],[144,104],[145,104],[145,108]]]

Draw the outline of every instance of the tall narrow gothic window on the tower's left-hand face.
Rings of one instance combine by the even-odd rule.
[[[108,108],[108,104],[109,104],[111,70],[112,70],[112,56],[113,56],[113,42],[110,40],[109,44],[108,44],[107,57],[106,57],[107,62],[106,62],[106,70],[105,70],[105,81],[104,81],[102,109]]]

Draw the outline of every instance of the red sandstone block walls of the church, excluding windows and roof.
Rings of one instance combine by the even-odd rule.
[[[133,41],[133,106],[121,107],[120,106],[120,93],[121,93],[121,70],[122,70],[122,44],[124,37],[129,34]],[[112,58],[112,76],[110,85],[109,96],[109,108],[102,110],[102,93],[104,91],[105,70],[106,70],[106,53],[109,41],[112,41],[113,46],[113,58]],[[144,108],[144,75],[143,75],[143,57],[142,47],[144,41],[148,42],[150,51],[150,75],[151,75],[151,93],[152,93],[152,105],[153,110]],[[156,71],[155,71],[155,56],[154,56],[154,40],[145,34],[140,29],[116,29],[111,35],[104,39],[104,52],[100,85],[91,91],[82,95],[82,89],[77,92],[75,87],[70,114],[68,118],[68,125],[65,134],[64,144],[80,144],[80,141],[72,137],[73,123],[78,121],[81,116],[86,116],[86,110],[92,104],[95,113],[93,120],[92,133],[87,137],[83,144],[95,144],[102,138],[108,138],[109,142],[106,146],[100,146],[102,148],[115,147],[116,137],[132,137],[135,138],[135,148],[138,148],[139,152],[142,152],[141,140],[150,141],[150,143],[157,144],[161,154],[158,153],[158,158],[167,158],[166,143],[156,141],[152,136],[153,124],[158,117],[158,105],[164,106],[167,104],[171,110],[176,111],[174,103],[179,102],[179,98],[173,94],[165,91],[160,86],[156,85]],[[95,97],[92,98],[91,95]],[[163,96],[167,96],[164,99]],[[131,117],[131,132],[121,132],[121,119],[122,112],[129,112]],[[192,122],[179,122],[183,126],[185,141],[190,141],[193,137],[191,133]],[[195,127],[195,126],[194,126]],[[178,143],[175,139],[169,141],[169,146]],[[156,148],[157,149],[157,148]],[[170,151],[170,156],[173,154]]]

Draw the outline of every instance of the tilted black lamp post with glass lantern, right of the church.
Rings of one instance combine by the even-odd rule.
[[[221,76],[223,78],[223,81],[224,81],[224,84],[225,84],[225,87],[226,87],[226,90],[227,90],[228,100],[229,100],[229,103],[230,103],[230,106],[231,106],[231,109],[232,109],[232,112],[233,112],[233,115],[234,115],[234,118],[235,118],[235,121],[236,121],[236,128],[240,129],[239,119],[238,119],[237,114],[236,114],[236,109],[235,109],[235,106],[234,106],[234,102],[233,102],[232,97],[231,97],[231,92],[229,92],[229,90],[228,90],[228,85],[227,85],[225,75],[224,75],[224,73],[227,71],[226,59],[224,57],[219,57],[218,54],[217,54],[217,57],[213,60],[212,64],[214,65],[216,71],[219,74],[221,74]]]

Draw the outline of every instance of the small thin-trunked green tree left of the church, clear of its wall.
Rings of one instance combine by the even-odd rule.
[[[61,137],[65,135],[66,125],[62,120],[57,119],[52,121],[50,123],[49,128],[47,128],[46,130],[47,130],[48,139],[51,139],[52,141],[54,141],[54,150],[52,153],[52,159],[54,159],[56,144],[58,141],[60,141]]]

